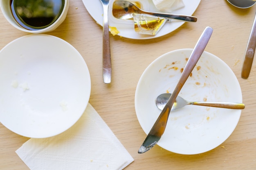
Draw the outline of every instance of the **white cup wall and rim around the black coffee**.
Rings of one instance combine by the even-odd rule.
[[[16,20],[13,18],[13,15],[11,13],[10,0],[0,0],[0,7],[1,7],[4,17],[12,26],[14,26],[15,28],[17,28],[20,31],[24,31],[27,33],[39,34],[39,33],[47,33],[50,31],[54,31],[65,20],[67,11],[69,8],[69,0],[65,0],[62,13],[53,24],[51,24],[50,26],[48,26],[46,28],[36,30],[36,31],[31,31],[26,28],[23,28],[22,26],[20,26],[20,24],[18,24],[18,22],[16,22]]]

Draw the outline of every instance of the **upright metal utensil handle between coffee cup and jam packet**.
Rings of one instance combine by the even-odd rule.
[[[111,82],[111,55],[108,28],[108,3],[103,4],[103,51],[102,51],[102,72],[104,83]]]

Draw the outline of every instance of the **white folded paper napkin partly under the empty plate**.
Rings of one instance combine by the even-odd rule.
[[[31,170],[121,170],[134,161],[90,103],[70,129],[31,138],[16,153]]]

